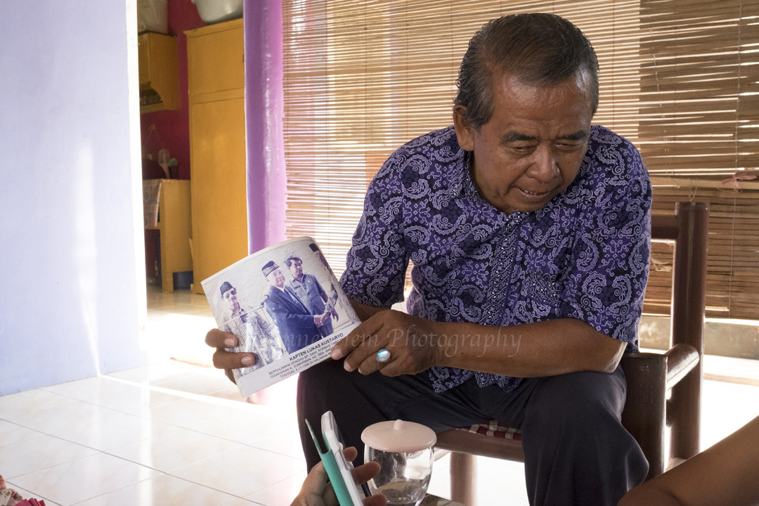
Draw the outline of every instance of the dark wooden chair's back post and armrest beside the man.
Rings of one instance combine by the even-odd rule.
[[[672,459],[699,451],[708,224],[705,203],[677,203],[676,215],[651,217],[651,239],[675,243],[669,350],[622,360],[628,377],[622,423],[649,460],[649,478],[663,473]],[[669,455],[663,454],[665,424],[672,429]]]

